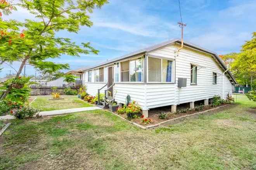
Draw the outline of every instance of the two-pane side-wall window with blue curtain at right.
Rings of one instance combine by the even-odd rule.
[[[149,82],[173,82],[173,61],[148,57]]]

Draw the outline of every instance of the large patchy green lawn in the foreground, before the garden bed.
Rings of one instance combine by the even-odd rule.
[[[12,120],[0,169],[256,169],[256,102],[143,130],[105,110]]]

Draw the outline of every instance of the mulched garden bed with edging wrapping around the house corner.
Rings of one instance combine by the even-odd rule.
[[[216,106],[216,107],[220,107],[220,106],[223,106],[223,105],[227,105],[227,104],[221,104],[221,105]],[[171,113],[171,107],[170,106],[158,107],[158,108],[154,108],[154,109],[149,110],[149,117],[146,118],[146,119],[151,119],[152,120],[152,122],[149,123],[149,124],[142,123],[142,120],[145,119],[145,118],[140,117],[142,114],[138,115],[138,118],[135,118],[135,119],[128,119],[126,114],[119,114],[119,115],[124,117],[125,119],[130,120],[131,122],[135,122],[135,123],[143,125],[143,126],[149,126],[149,125],[158,124],[160,122],[164,122],[164,121],[167,121],[167,120],[170,120],[170,119],[175,119],[175,118],[178,118],[178,117],[194,114],[196,112],[202,112],[202,111],[213,109],[213,108],[214,107],[211,107],[210,105],[208,105],[208,106],[204,106],[204,108],[201,109],[201,110],[191,110],[191,111],[186,112],[186,113],[178,113],[178,112],[177,113]],[[159,114],[161,112],[167,114],[167,117],[165,119],[160,119],[159,118]],[[118,114],[117,112],[114,112],[114,113]]]

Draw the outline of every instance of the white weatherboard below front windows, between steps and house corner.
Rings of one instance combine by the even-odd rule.
[[[115,92],[117,91],[117,93]],[[145,106],[145,84],[118,84],[114,85],[115,100],[125,104],[126,96],[129,94],[131,100],[136,101],[141,107]]]

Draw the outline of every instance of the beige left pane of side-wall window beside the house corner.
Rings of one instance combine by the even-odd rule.
[[[149,82],[161,82],[161,59],[148,58]]]

